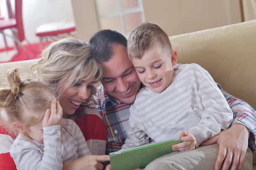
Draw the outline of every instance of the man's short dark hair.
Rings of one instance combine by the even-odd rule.
[[[121,33],[104,29],[96,32],[89,40],[92,56],[99,62],[108,62],[114,55],[116,45],[127,48],[127,40]]]

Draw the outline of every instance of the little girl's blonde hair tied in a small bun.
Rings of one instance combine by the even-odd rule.
[[[31,125],[44,118],[55,95],[42,82],[29,79],[22,81],[17,68],[8,72],[7,82],[9,88],[0,90],[0,108],[5,110],[8,117],[7,126],[17,135],[12,124],[19,122],[28,131]]]

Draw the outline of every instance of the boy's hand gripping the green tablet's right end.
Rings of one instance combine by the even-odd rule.
[[[181,132],[180,139],[183,142],[172,145],[172,150],[186,152],[186,151],[195,149],[195,136],[194,135],[192,135],[191,133]]]

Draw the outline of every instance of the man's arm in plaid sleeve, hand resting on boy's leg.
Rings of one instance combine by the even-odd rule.
[[[201,145],[209,145],[216,142],[219,144],[215,170],[219,170],[221,164],[223,164],[222,170],[227,170],[230,164],[230,170],[240,170],[244,163],[247,147],[249,146],[254,153],[256,152],[256,112],[243,100],[231,96],[220,85],[218,87],[233,112],[234,120],[228,130],[222,131]]]

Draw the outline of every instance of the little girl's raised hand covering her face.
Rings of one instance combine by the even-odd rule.
[[[59,102],[56,106],[54,101],[51,102],[51,110],[47,109],[43,119],[43,127],[49,127],[54,125],[61,125],[62,122],[62,108]]]

